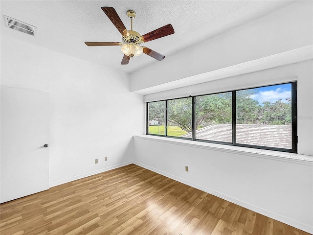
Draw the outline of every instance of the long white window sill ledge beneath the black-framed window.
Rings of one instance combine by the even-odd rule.
[[[166,142],[166,143],[172,143],[172,144],[179,144],[179,145],[191,146],[191,147],[196,147],[196,148],[211,149],[215,151],[224,151],[224,152],[229,152],[229,153],[244,154],[244,155],[249,155],[249,156],[258,157],[258,158],[276,159],[279,161],[287,161],[287,162],[292,162],[292,163],[296,162],[300,164],[310,164],[310,165],[313,164],[313,156],[310,156],[310,155],[279,152],[279,151],[264,150],[264,149],[257,149],[257,148],[246,148],[246,147],[224,145],[224,144],[217,144],[217,143],[207,143],[207,142],[200,142],[200,141],[181,140],[181,139],[175,139],[175,138],[150,136],[150,135],[134,136],[134,138],[150,140],[150,141],[160,141],[160,142]]]

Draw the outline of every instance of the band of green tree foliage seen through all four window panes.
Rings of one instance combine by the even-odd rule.
[[[258,89],[236,92],[237,123],[243,124],[291,124],[291,98],[287,102],[277,100],[262,105],[251,95]],[[149,120],[164,122],[164,101],[149,103]],[[186,132],[192,127],[192,98],[180,98],[167,101],[168,125],[179,126]],[[232,93],[209,94],[196,97],[196,130],[200,125],[231,123]]]

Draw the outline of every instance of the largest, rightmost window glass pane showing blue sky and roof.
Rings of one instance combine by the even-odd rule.
[[[291,149],[291,83],[236,92],[236,142]]]

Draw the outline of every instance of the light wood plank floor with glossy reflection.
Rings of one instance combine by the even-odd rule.
[[[0,210],[1,235],[308,235],[134,164]]]

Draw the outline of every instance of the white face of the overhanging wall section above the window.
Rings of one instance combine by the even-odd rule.
[[[195,39],[194,46],[133,72],[131,91],[312,45],[313,1],[296,1],[212,39],[201,40]]]

